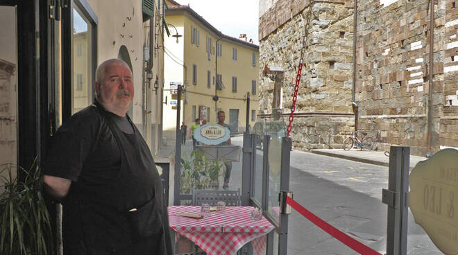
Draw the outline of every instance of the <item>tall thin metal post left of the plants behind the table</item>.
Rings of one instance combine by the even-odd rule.
[[[173,185],[173,205],[180,205],[180,161],[181,161],[181,130],[180,130],[180,112],[181,112],[181,91],[183,87],[178,85],[177,103],[176,103],[176,139],[175,139],[175,178]]]

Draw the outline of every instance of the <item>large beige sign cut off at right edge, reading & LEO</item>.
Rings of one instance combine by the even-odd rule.
[[[419,162],[409,179],[415,222],[443,253],[458,254],[458,150],[441,150]]]

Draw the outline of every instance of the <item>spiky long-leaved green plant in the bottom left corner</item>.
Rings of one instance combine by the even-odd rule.
[[[24,182],[15,171],[24,173]],[[29,170],[0,165],[0,254],[53,254],[51,219],[42,191],[35,161]]]

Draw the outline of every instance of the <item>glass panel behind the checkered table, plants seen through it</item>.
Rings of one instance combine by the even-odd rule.
[[[194,132],[200,132],[200,128]],[[183,132],[180,134],[184,135]],[[226,202],[228,206],[241,205],[242,146],[243,136],[230,137],[230,145],[226,141],[219,145],[196,141],[196,147],[193,148],[192,141],[182,142],[180,200],[186,200],[184,195],[192,195],[193,190],[207,190],[195,193],[207,196],[202,199],[206,199],[211,206],[218,201]],[[191,203],[199,205],[202,199],[194,195]]]

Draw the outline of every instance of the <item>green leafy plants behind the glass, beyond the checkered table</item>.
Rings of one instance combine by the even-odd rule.
[[[208,189],[219,188],[219,177],[223,162],[209,160],[201,152],[191,152],[183,155],[181,163],[181,191],[190,194],[193,188]]]

